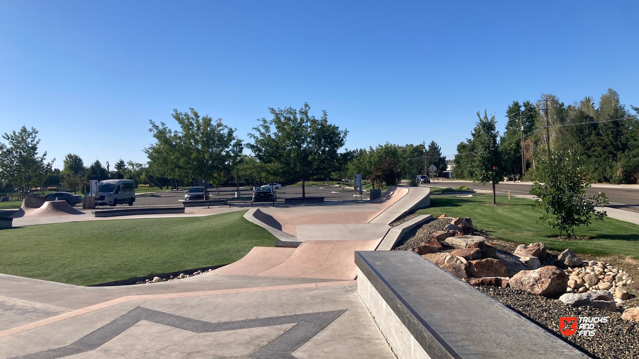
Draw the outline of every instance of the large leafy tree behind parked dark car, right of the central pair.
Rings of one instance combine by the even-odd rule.
[[[305,182],[312,178],[326,178],[338,167],[338,150],[346,141],[346,130],[328,123],[326,111],[316,119],[309,115],[308,103],[299,111],[288,107],[269,111],[273,118],[261,119],[254,127],[254,140],[247,147],[260,162],[273,164],[281,176],[302,181],[302,197]]]

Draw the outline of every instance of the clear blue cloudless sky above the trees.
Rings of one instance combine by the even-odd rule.
[[[62,167],[146,162],[148,120],[222,118],[246,139],[268,107],[347,128],[347,148],[435,140],[477,111],[639,105],[638,1],[0,1],[0,133],[35,126]]]

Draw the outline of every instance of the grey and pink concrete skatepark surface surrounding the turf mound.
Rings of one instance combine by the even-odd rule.
[[[252,222],[303,243],[254,247],[236,263],[187,279],[79,287],[0,274],[0,359],[394,358],[357,295],[353,252],[374,250],[390,229],[379,218],[394,220],[427,195],[395,188],[378,201],[253,209]],[[17,225],[110,220],[58,206],[46,208],[56,215],[23,215]]]

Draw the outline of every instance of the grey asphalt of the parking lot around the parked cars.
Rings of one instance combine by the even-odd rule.
[[[348,192],[337,192],[341,191],[341,187],[334,187],[331,185],[327,186],[305,186],[305,192],[307,196],[313,195],[321,195],[327,201],[344,201],[355,199],[353,196],[353,190],[348,190]],[[209,188],[209,196],[211,199],[224,199],[229,198],[232,199],[235,197],[236,187],[222,187],[220,188],[220,194],[217,194],[217,190],[214,188]],[[332,193],[337,192],[337,193]],[[135,195],[135,206],[166,206],[167,204],[181,204],[184,200],[185,190],[173,191],[173,192],[160,192],[155,194],[137,194]],[[250,201],[250,197],[253,195],[252,187],[242,187],[240,188],[240,195],[243,198],[243,201]],[[284,201],[284,197],[302,197],[302,187],[301,186],[289,186],[282,187],[281,189],[275,192],[277,195],[278,201]],[[368,197],[368,192],[365,192],[362,197],[366,199]],[[180,201],[182,200],[182,201]],[[118,205],[119,206],[119,205]]]

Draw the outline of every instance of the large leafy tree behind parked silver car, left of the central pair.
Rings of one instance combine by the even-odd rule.
[[[236,141],[235,129],[222,123],[222,119],[213,121],[211,116],[200,116],[195,109],[189,112],[173,110],[173,118],[181,131],[171,131],[164,123],[156,125],[152,120],[150,131],[157,143],[150,152],[156,171],[164,172],[167,178],[183,176],[201,178],[208,187],[209,179],[219,176],[226,169],[231,157],[231,144]],[[165,162],[166,165],[160,164]],[[206,199],[208,191],[204,192]]]

